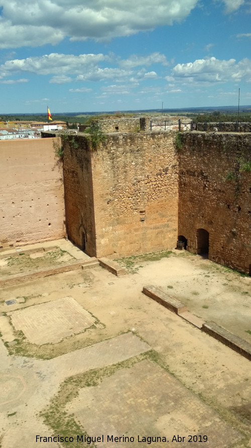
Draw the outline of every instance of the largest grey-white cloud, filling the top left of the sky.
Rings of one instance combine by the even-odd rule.
[[[226,0],[227,1],[227,0]],[[235,2],[241,0],[235,0]],[[0,48],[107,41],[184,20],[198,0],[2,0]]]

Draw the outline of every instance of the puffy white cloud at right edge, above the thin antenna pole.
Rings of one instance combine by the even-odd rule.
[[[177,64],[173,69],[176,82],[186,83],[225,83],[249,82],[251,78],[251,59],[244,58],[239,62],[235,59],[219,60],[215,57],[197,59],[194,62]],[[170,77],[168,78],[168,81]]]

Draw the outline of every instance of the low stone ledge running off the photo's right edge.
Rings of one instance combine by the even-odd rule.
[[[251,344],[210,321],[202,325],[202,331],[227,345],[235,352],[251,361]]]

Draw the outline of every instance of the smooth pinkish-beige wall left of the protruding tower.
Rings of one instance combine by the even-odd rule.
[[[52,142],[1,142],[0,246],[65,235],[62,166]]]

